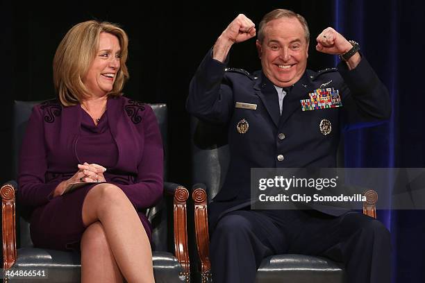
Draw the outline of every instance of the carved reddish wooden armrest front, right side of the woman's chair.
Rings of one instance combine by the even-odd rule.
[[[188,224],[186,200],[189,198],[189,191],[183,186],[176,188],[174,192],[174,251],[175,255],[183,266],[186,282],[190,280],[190,261],[188,251]]]

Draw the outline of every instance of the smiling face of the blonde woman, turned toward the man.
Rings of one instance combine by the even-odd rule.
[[[99,50],[83,78],[90,96],[105,96],[113,89],[120,66],[120,53],[118,37],[105,32],[99,35]]]

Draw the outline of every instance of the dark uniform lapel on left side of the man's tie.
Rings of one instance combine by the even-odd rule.
[[[269,79],[264,76],[263,72],[261,73],[260,78],[261,80],[257,80],[256,84],[254,85],[255,92],[260,97],[261,101],[263,101],[267,112],[277,127],[279,119],[281,118],[281,112],[279,110],[279,101],[276,88],[269,81]]]

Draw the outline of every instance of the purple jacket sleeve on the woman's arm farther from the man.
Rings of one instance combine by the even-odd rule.
[[[47,153],[44,142],[44,121],[35,106],[26,126],[19,153],[18,198],[23,205],[38,207],[49,202],[57,182],[46,184]]]

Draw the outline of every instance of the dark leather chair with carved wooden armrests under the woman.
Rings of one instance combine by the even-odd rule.
[[[14,141],[20,148],[33,105],[37,102],[15,101]],[[151,104],[163,136],[165,169],[167,162],[167,105]],[[14,151],[15,172],[17,150]],[[165,172],[165,176],[167,173]],[[16,173],[15,173],[16,176]],[[7,182],[0,189],[2,200],[3,268],[14,270],[44,270],[47,276],[31,282],[80,282],[81,261],[78,252],[64,252],[33,248],[29,223],[19,217],[23,207],[15,202],[17,183]],[[164,182],[165,198],[147,212],[152,223],[153,273],[156,282],[190,282],[190,261],[186,222],[186,200],[189,192],[185,187]],[[170,219],[168,221],[168,219]],[[173,219],[171,221],[171,219]],[[174,253],[174,255],[173,255]],[[19,282],[17,278],[5,277],[5,282]],[[28,278],[22,280],[30,282]]]

